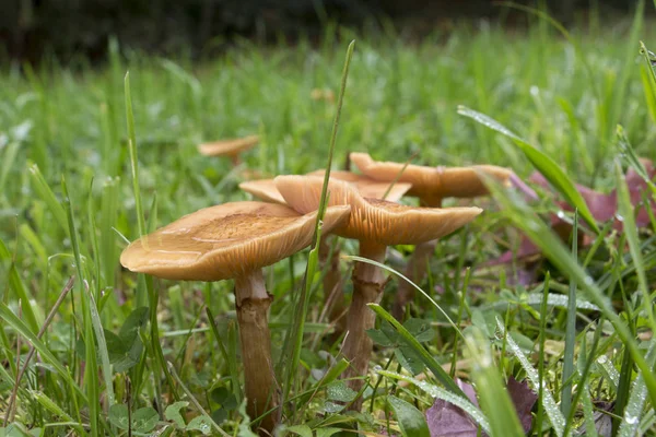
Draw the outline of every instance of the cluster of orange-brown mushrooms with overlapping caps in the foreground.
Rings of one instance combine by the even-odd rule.
[[[430,245],[482,211],[479,208],[438,208],[445,197],[487,193],[483,172],[507,181],[509,172],[494,166],[436,168],[378,163],[367,154],[352,153],[362,175],[331,172],[323,235],[356,239],[360,256],[383,263],[387,246]],[[247,411],[261,417],[260,433],[270,433],[281,418],[279,386],[271,359],[268,309],[272,297],[265,288],[261,269],[309,246],[320,203],[324,173],[278,176],[239,187],[265,202],[244,201],[200,210],[132,243],[121,255],[129,270],[169,280],[235,280],[235,303]],[[422,206],[395,203],[417,196]],[[421,265],[432,252],[424,250]],[[336,260],[339,262],[339,260]],[[423,269],[414,269],[415,281]],[[412,271],[410,272],[412,273]],[[325,282],[324,293],[339,288],[338,279]],[[366,305],[378,303],[386,284],[383,270],[358,262],[352,275],[353,296],[347,317],[343,355],[351,365],[347,383],[360,390],[367,374],[373,344],[366,330],[375,317]],[[408,298],[405,296],[403,298]],[[398,302],[397,302],[398,304]],[[401,303],[403,304],[403,303]],[[359,408],[356,402],[354,408]]]

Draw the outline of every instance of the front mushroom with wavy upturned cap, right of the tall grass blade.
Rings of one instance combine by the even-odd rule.
[[[300,213],[317,210],[323,179],[317,176],[279,176],[276,187],[284,200]],[[421,244],[450,234],[472,221],[482,211],[479,208],[432,209],[407,206],[377,199],[365,199],[353,186],[340,180],[330,180],[328,204],[351,205],[347,224],[333,229],[333,234],[358,239],[360,256],[372,261],[384,262],[387,246]],[[353,298],[347,319],[348,334],[343,354],[351,362],[347,378],[366,375],[373,349],[366,330],[374,328],[375,315],[366,305],[378,303],[386,283],[383,269],[358,262],[353,270]],[[350,379],[348,385],[355,391],[363,386],[360,378]],[[353,403],[359,409],[361,401]]]

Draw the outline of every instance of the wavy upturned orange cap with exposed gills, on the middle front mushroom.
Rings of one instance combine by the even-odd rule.
[[[278,190],[300,213],[316,211],[324,180],[317,176],[278,176]],[[417,208],[377,199],[365,199],[341,180],[330,180],[328,205],[351,205],[351,215],[333,233],[380,245],[418,245],[443,237],[481,213],[480,208]]]

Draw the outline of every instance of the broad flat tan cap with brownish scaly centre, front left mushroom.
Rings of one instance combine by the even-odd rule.
[[[329,208],[324,231],[343,224],[350,208]],[[273,264],[312,243],[316,213],[285,205],[233,202],[210,206],[130,244],[120,263],[167,280],[220,281]]]

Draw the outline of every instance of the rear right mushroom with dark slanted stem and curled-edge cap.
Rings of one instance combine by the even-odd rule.
[[[418,197],[424,206],[440,208],[446,198],[475,198],[489,194],[488,187],[479,173],[483,173],[500,182],[509,186],[512,170],[495,165],[475,165],[471,167],[427,167],[406,165],[403,163],[374,161],[367,153],[351,153],[350,160],[363,175],[376,180],[399,180],[412,184],[408,196]],[[419,284],[426,273],[426,263],[435,252],[437,241],[418,245],[406,267],[406,277]],[[402,281],[399,283],[393,315],[403,317],[406,305],[414,298],[414,287]]]

